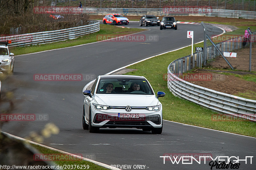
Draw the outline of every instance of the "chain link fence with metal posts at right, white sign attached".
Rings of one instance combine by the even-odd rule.
[[[207,40],[207,48],[204,51],[207,56],[207,65],[215,68],[230,68],[232,66],[236,70],[250,71],[251,55],[251,71],[256,71],[256,58],[254,57],[256,56],[255,29],[251,29],[252,35],[245,34],[245,30],[247,29],[236,28],[232,32],[226,32],[223,35],[216,36],[216,27],[205,23],[203,26],[206,28],[208,37],[211,38],[212,42],[221,52],[220,54],[216,47]],[[252,45],[251,49],[250,45]]]

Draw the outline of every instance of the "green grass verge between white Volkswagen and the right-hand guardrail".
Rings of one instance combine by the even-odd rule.
[[[128,68],[137,69],[137,71],[126,74],[145,76],[156,93],[157,91],[166,93],[165,97],[159,98],[163,104],[163,118],[165,120],[256,137],[256,123],[250,121],[212,121],[212,115],[218,113],[172,95],[167,88],[167,81],[163,79],[167,73],[166,68],[173,60],[190,54],[190,50],[191,47],[187,47],[150,58],[129,66]]]

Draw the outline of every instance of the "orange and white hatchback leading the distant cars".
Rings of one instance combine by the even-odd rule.
[[[120,14],[108,14],[103,18],[103,24],[129,24],[129,19]]]

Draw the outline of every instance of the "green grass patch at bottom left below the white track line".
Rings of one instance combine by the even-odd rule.
[[[44,148],[42,146],[38,146],[38,145],[35,145],[35,144],[31,144],[31,145],[34,148],[36,148],[39,152],[41,152],[42,154],[50,154],[49,156],[47,156],[47,158],[53,159],[54,156],[56,157],[56,154],[58,156],[60,156],[60,160],[59,161],[54,161],[54,163],[57,164],[57,165],[66,167],[65,169],[74,169],[74,170],[75,169],[77,169],[77,170],[79,170],[79,169],[97,169],[97,170],[108,169],[108,168],[98,166],[98,165],[96,165],[92,162],[88,162],[88,161],[85,161],[85,160],[82,160],[82,159],[72,157],[73,158],[73,160],[72,160],[72,158],[70,158],[69,155],[65,157],[65,154],[63,154],[63,153]],[[64,159],[65,161],[63,161],[61,158],[68,158],[68,160],[71,159],[71,161],[66,161],[67,159],[66,160]],[[73,166],[73,168],[67,168],[67,167],[71,167],[71,166]],[[74,168],[75,166],[76,166],[76,168]],[[79,168],[77,168],[77,166],[79,166]],[[84,166],[87,167],[87,168],[84,168]],[[88,168],[88,166],[89,166],[89,168]],[[83,168],[81,168],[81,167],[83,167]],[[61,168],[59,168],[59,169],[61,169]],[[62,169],[64,169],[64,168],[62,168]]]

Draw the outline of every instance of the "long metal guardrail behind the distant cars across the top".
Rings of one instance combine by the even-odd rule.
[[[186,12],[186,9],[180,9],[184,12],[175,12],[175,10],[168,10],[166,8],[82,8],[82,13],[89,15],[107,15],[109,13],[119,13],[122,15],[176,15],[176,16],[205,16],[205,17],[227,17],[227,18],[244,18],[256,19],[256,12],[253,11],[238,11],[238,10],[223,10],[223,9],[208,9],[198,10],[197,12]]]

